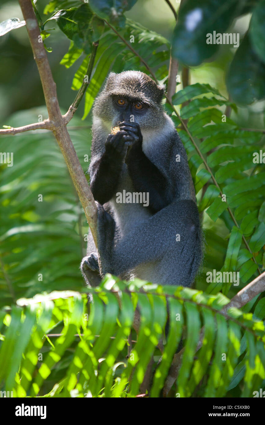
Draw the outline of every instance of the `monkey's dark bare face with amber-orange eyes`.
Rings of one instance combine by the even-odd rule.
[[[113,96],[112,103],[119,114],[117,122],[130,121],[132,115],[135,122],[138,122],[137,118],[140,118],[141,121],[149,108],[149,105],[139,99],[129,99],[126,96]]]

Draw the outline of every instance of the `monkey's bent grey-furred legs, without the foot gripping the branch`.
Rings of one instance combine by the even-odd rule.
[[[116,246],[115,222],[98,203],[97,208],[103,274],[120,275],[140,266],[140,278],[152,280],[155,276],[155,281],[162,284],[191,286],[202,260],[202,233],[194,201],[172,202],[133,227]],[[145,277],[144,266],[148,263]]]

